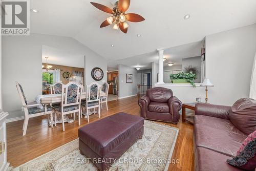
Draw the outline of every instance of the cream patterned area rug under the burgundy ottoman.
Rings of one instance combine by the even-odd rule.
[[[116,160],[109,170],[167,170],[172,162],[178,133],[175,127],[145,120],[143,138]],[[76,139],[12,170],[93,171],[97,168],[80,154]]]

